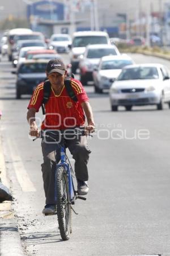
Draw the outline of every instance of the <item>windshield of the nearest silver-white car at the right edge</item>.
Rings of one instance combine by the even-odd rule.
[[[159,79],[158,69],[155,67],[138,67],[123,69],[117,80]]]

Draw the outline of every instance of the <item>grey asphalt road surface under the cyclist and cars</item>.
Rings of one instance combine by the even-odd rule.
[[[131,55],[136,63],[169,61]],[[67,56],[63,59],[68,61]],[[86,86],[96,121],[89,139],[90,192],[77,200],[73,234],[63,242],[57,217],[44,217],[41,142],[28,138],[29,97],[15,100],[11,64],[0,63],[1,134],[12,205],[25,255],[170,255],[170,110],[156,106],[111,112],[108,94]],[[42,119],[41,112],[38,114]],[[1,222],[1,220],[0,220]]]

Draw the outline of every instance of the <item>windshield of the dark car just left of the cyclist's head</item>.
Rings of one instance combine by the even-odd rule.
[[[46,68],[46,63],[24,63],[20,65],[18,73],[28,74],[28,73],[44,73]]]

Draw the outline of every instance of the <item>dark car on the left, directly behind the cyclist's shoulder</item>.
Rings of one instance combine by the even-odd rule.
[[[25,60],[21,63],[16,74],[16,98],[20,99],[23,94],[32,95],[33,90],[46,78],[45,68],[49,60]]]

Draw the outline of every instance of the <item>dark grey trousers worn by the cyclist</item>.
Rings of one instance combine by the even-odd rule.
[[[67,147],[69,148],[73,158],[75,159],[75,175],[77,179],[88,180],[87,163],[90,150],[87,147],[86,136],[80,136],[74,139],[66,139]],[[50,143],[42,141],[42,155],[44,163],[41,164],[42,178],[44,181],[44,191],[46,204],[56,204],[54,200],[54,173],[56,161],[60,160],[59,147],[56,147],[54,142]]]

